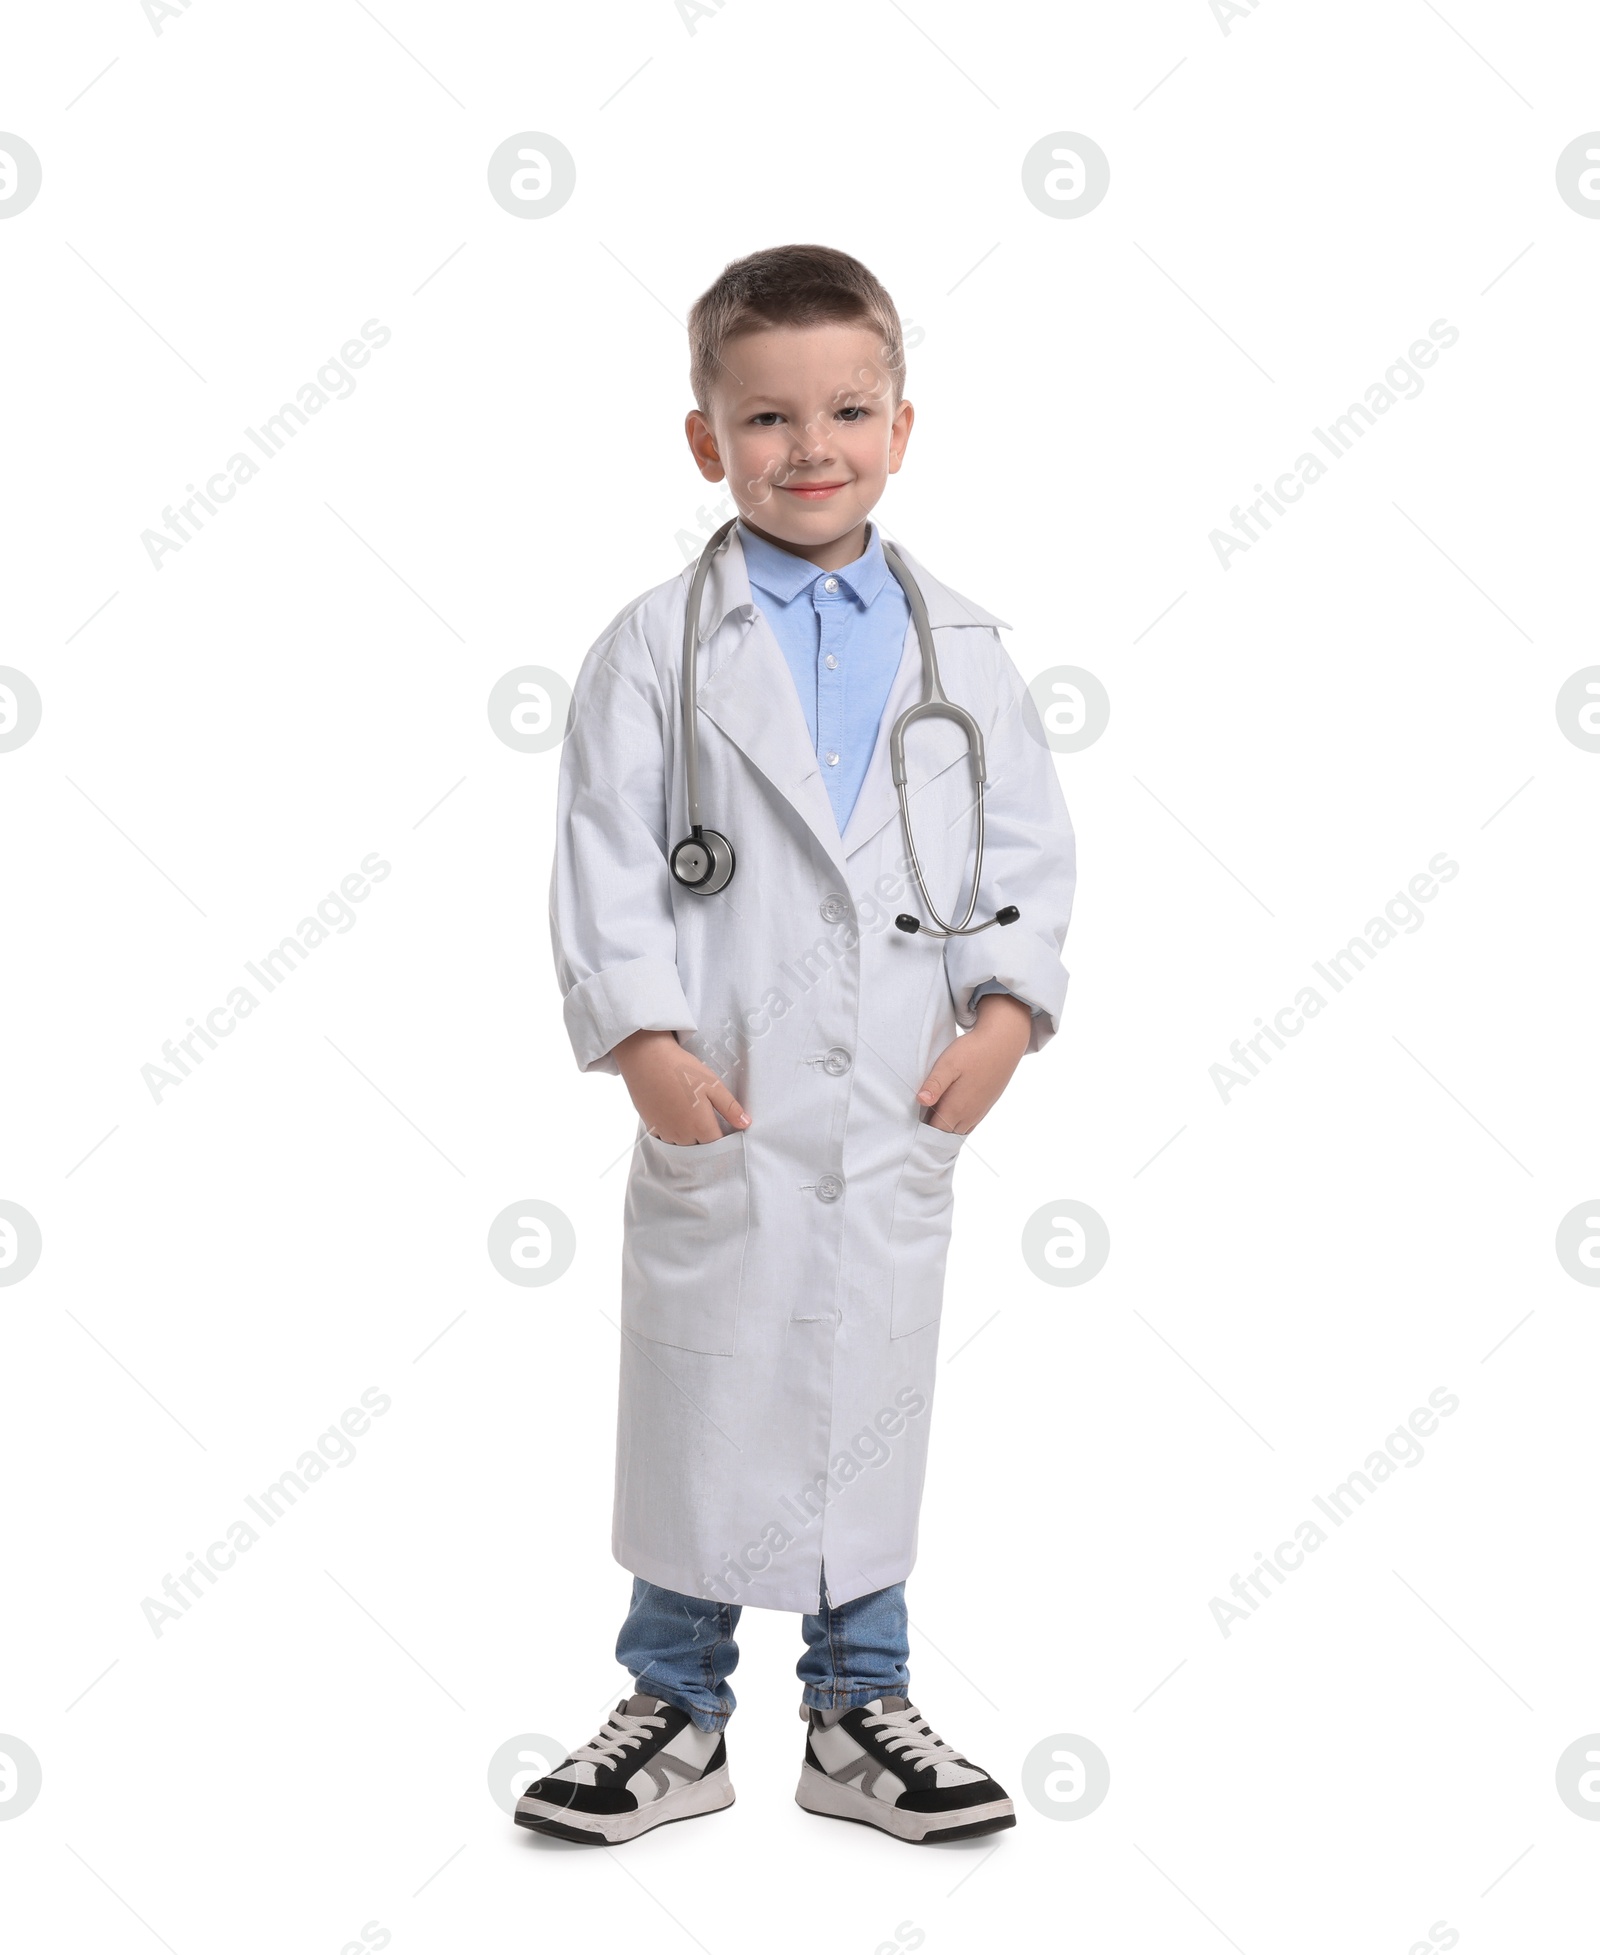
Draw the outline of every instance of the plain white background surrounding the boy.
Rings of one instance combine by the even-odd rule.
[[[1596,659],[1600,223],[1555,158],[1600,125],[1596,20],[694,29],[80,0],[0,35],[0,127],[43,160],[0,223],[0,659],[43,696],[0,755],[0,1196],[43,1232],[0,1290],[0,1732],[43,1765],[0,1824],[6,1937],[1588,1945],[1600,1828],[1555,1761],[1600,1730],[1600,1298],[1555,1230],[1600,1185],[1600,755],[1555,694]],[[518,131],[577,160],[540,221],[487,192]],[[1076,221],[1021,186],[1054,131],[1111,158]],[[917,1701],[1019,1824],[913,1851],[802,1814],[798,1625],[749,1611],[737,1804],[597,1853],[485,1773],[628,1683],[634,1112],[561,1028],[557,755],[485,704],[573,676],[710,528],[683,319],[780,242],[861,256],[921,330],[886,534],[1025,674],[1111,696],[1058,762],[1066,1021],[964,1150],[908,1591]],[[356,393],[155,569],[141,532],[368,319]],[[1440,319],[1426,391],[1222,569],[1209,532]],[[141,1067],[370,850],[354,927],[156,1103]],[[1224,1103],[1228,1044],[1440,850],[1424,925]],[[1066,1196],[1111,1232],[1082,1288],[1019,1253]],[[485,1251],[528,1198],[579,1241],[542,1290]],[[143,1599],[370,1386],[354,1462],[155,1636]],[[1222,1636],[1230,1576],[1440,1386],[1422,1462]],[[1111,1765],[1076,1822],[1021,1793],[1060,1734]]]

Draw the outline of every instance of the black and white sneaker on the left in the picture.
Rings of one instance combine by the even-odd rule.
[[[733,1804],[728,1742],[663,1697],[636,1693],[516,1801],[516,1824],[557,1840],[616,1846],[669,1820]]]

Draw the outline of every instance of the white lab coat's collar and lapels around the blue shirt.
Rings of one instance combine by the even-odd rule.
[[[947,585],[941,585],[937,577],[915,561],[910,549],[902,549],[900,555],[917,581],[935,633],[962,626],[1001,626],[1009,630],[1003,618],[996,618],[982,604],[972,604]],[[884,573],[892,575],[888,565],[884,565]],[[683,573],[685,600],[689,598],[690,577],[692,565]],[[733,630],[724,631],[728,624]],[[935,637],[935,651],[945,653],[949,647],[941,647]],[[728,540],[728,547],[714,559],[706,575],[698,665],[696,692],[700,712],[739,747],[794,807],[839,872],[841,888],[847,890],[847,856],[855,854],[886,821],[896,819],[900,813],[900,798],[890,780],[888,735],[896,717],[921,698],[921,651],[917,647],[915,624],[906,626],[900,669],[896,671],[878,723],[872,760],[843,835],[839,835],[839,823],[833,815],[833,804],[827,798],[822,766],[806,727],[806,712],[800,706],[800,694],[794,688],[788,663],[751,594],[737,526]],[[941,674],[951,698],[960,700],[958,674],[949,669],[945,657],[941,657]],[[919,749],[923,759],[913,768],[913,786],[925,784],[933,774],[941,774],[966,755],[960,735],[949,721],[931,721],[921,727]],[[911,800],[915,819],[915,794]],[[716,813],[710,805],[706,805],[706,819],[716,827]]]

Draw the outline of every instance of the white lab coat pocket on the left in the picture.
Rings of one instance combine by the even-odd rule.
[[[732,1357],[749,1238],[745,1134],[677,1148],[642,1134],[622,1212],[622,1327]]]

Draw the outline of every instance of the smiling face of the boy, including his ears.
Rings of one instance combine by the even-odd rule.
[[[894,377],[872,326],[765,326],[722,348],[710,416],[685,422],[706,481],[728,479],[753,530],[802,557],[849,563],[867,514],[900,469],[911,403],[894,407]],[[829,567],[837,567],[829,565]]]

